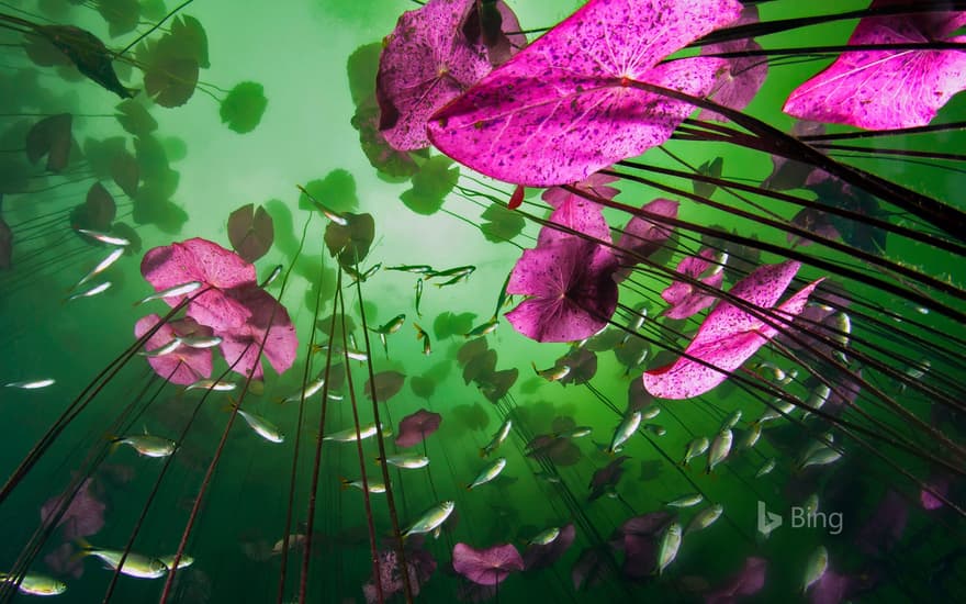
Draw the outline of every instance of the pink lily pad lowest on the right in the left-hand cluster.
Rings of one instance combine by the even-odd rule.
[[[255,286],[228,290],[228,295],[247,310],[250,318],[234,329],[216,331],[222,336],[221,348],[225,360],[232,365],[240,357],[234,371],[243,376],[250,372],[254,379],[259,380],[263,374],[259,348],[265,340],[261,353],[272,369],[279,374],[288,371],[295,362],[299,338],[285,307],[270,293]]]

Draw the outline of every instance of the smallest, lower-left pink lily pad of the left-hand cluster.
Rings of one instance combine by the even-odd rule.
[[[157,325],[160,320],[161,317],[156,314],[149,314],[142,317],[134,325],[135,337],[141,337],[146,334],[151,327]],[[168,344],[175,339],[175,337],[187,335],[210,336],[212,335],[212,331],[199,325],[191,318],[171,321],[161,325],[158,331],[155,332],[155,335],[147,339],[144,344],[144,349],[147,351],[155,350]],[[151,366],[151,369],[155,370],[155,373],[178,385],[188,385],[202,378],[211,378],[212,373],[211,348],[179,346],[167,355],[148,357],[147,362]]]

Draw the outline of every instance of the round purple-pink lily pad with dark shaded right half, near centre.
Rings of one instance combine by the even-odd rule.
[[[617,309],[616,269],[617,259],[607,248],[576,237],[526,249],[506,291],[529,298],[506,318],[537,342],[591,337]]]

